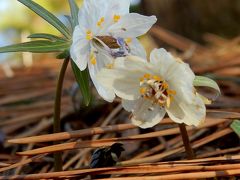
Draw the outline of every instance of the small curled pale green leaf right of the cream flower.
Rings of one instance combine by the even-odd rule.
[[[208,77],[196,76],[193,81],[193,85],[210,87],[210,88],[213,88],[214,90],[216,90],[218,92],[218,94],[221,94],[218,84],[214,80],[212,80]]]

